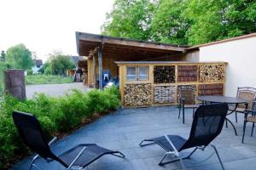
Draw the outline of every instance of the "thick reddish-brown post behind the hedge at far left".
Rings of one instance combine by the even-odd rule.
[[[26,99],[24,70],[4,71],[4,90],[17,99]]]

